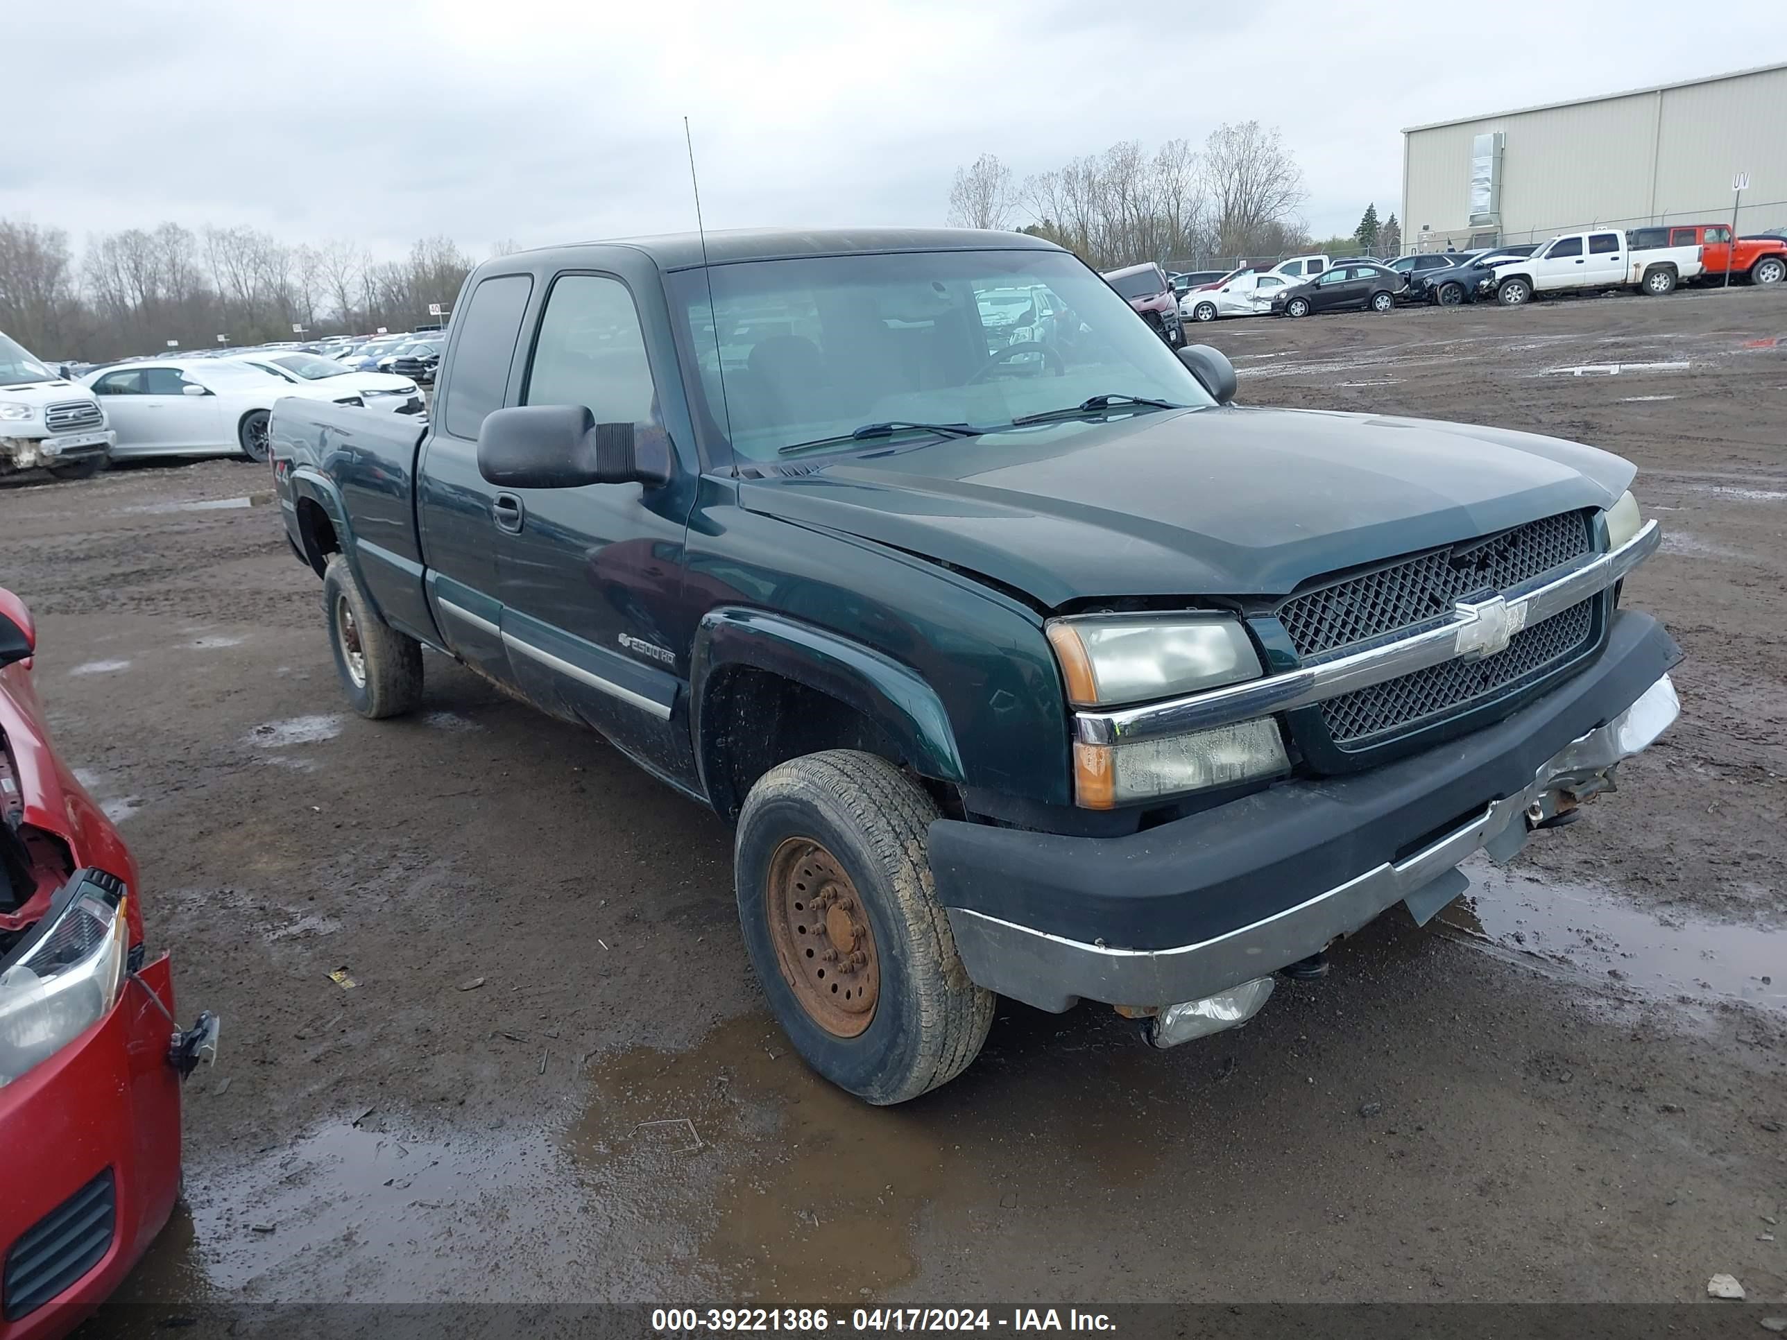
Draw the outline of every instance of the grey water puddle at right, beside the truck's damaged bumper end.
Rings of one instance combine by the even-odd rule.
[[[1592,884],[1551,884],[1481,856],[1471,893],[1439,920],[1505,954],[1615,981],[1657,999],[1744,1001],[1787,1011],[1787,925],[1708,922],[1646,911]]]

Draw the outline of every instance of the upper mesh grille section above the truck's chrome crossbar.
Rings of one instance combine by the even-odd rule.
[[[1590,552],[1590,543],[1589,515],[1567,511],[1296,595],[1278,618],[1306,661],[1447,616],[1456,600],[1506,591]]]

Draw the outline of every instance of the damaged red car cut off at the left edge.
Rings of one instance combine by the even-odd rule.
[[[0,590],[0,1340],[71,1331],[180,1188],[180,1079],[216,1020],[173,1017],[118,829],[55,756],[30,611]]]

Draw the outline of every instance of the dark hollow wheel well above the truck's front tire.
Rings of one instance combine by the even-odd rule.
[[[802,754],[860,749],[902,768],[899,745],[865,713],[842,699],[754,666],[720,670],[708,683],[701,709],[701,761],[708,799],[726,818],[738,818],[758,777]],[[936,791],[947,786],[919,779]],[[938,797],[940,804],[952,797]],[[947,804],[945,804],[947,811]]]

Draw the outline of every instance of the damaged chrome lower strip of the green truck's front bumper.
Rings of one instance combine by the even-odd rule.
[[[1489,847],[1496,859],[1508,859],[1524,845],[1530,809],[1548,809],[1542,802],[1553,791],[1592,795],[1605,790],[1607,772],[1649,745],[1678,715],[1674,684],[1664,675],[1612,722],[1553,754],[1526,790],[1494,800],[1464,827],[1406,859],[1385,861],[1272,917],[1196,945],[1088,945],[963,908],[947,909],[949,925],[969,977],[1040,1009],[1067,1009],[1081,999],[1165,1006],[1215,995],[1358,931],[1390,904],[1447,877],[1480,847]],[[1460,883],[1458,892],[1464,886]]]

